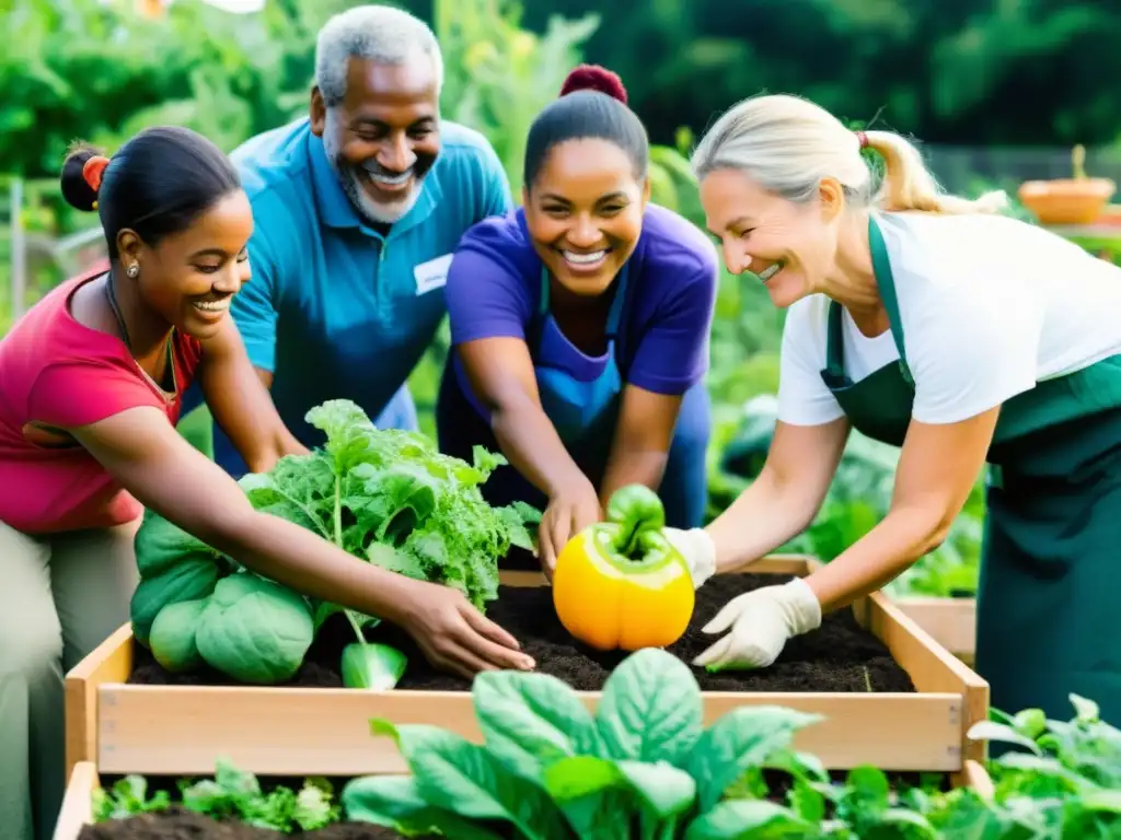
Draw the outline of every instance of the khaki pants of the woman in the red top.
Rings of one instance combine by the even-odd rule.
[[[129,618],[139,520],[28,536],[0,523],[0,834],[50,840],[66,790],[63,675]]]

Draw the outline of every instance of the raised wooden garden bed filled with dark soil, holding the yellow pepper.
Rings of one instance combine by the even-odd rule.
[[[695,628],[734,594],[806,575],[814,562],[773,557],[754,563],[751,575],[713,579],[698,591],[693,626],[669,651],[687,662],[712,642]],[[580,689],[594,708],[597,689],[623,654],[592,656],[568,637],[539,573],[506,572],[502,581],[488,615],[521,641],[539,671]],[[381,632],[385,626],[372,633]],[[309,652],[290,684],[258,688],[215,684],[216,673],[161,672],[133,643],[130,628],[121,627],[67,675],[67,765],[92,762],[103,774],[197,775],[225,758],[258,775],[404,772],[392,740],[370,735],[374,717],[437,724],[479,741],[469,684],[434,673],[408,638],[388,641],[409,656],[392,691],[341,688],[332,669],[342,642],[332,648],[330,638],[316,643],[327,650],[318,659]],[[741,704],[825,716],[799,732],[795,746],[831,769],[872,764],[960,774],[966,759],[984,755],[984,745],[969,743],[965,732],[988,716],[988,683],[879,592],[793,640],[769,669],[694,674],[704,691],[706,725]],[[184,679],[195,684],[166,684]],[[156,684],[160,680],[165,684]]]

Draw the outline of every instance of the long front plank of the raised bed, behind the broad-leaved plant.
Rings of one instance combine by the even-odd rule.
[[[101,688],[98,764],[103,773],[212,773],[219,758],[261,775],[405,772],[392,741],[370,735],[376,717],[435,724],[482,740],[467,692],[154,688]],[[595,709],[600,692],[580,696]],[[706,726],[741,706],[822,715],[825,719],[799,732],[796,744],[831,768],[961,768],[962,700],[956,694],[707,692],[704,702]]]

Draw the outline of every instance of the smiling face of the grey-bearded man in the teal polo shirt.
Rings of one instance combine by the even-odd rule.
[[[429,57],[400,65],[351,58],[346,95],[327,109],[312,93],[312,131],[354,207],[392,224],[416,203],[439,155],[439,91]]]

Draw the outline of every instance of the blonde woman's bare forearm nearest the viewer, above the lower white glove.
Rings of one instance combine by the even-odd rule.
[[[826,566],[806,578],[822,612],[846,607],[882,589],[945,535],[938,519],[920,508],[896,508]]]

